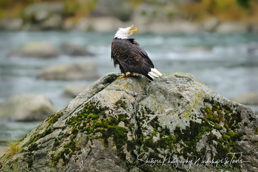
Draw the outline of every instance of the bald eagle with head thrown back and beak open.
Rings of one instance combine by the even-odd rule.
[[[128,28],[118,28],[114,39],[111,42],[111,60],[114,66],[119,65],[121,74],[120,78],[133,76],[138,73],[146,76],[153,81],[154,77],[162,76],[162,74],[154,68],[147,52],[135,41],[134,38],[128,38],[137,31],[130,30],[133,25]],[[126,72],[130,74],[126,75]]]

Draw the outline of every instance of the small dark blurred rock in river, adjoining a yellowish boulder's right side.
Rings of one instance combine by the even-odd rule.
[[[63,42],[60,45],[62,53],[69,56],[93,56],[93,54],[87,51],[85,46],[73,44],[71,42]]]

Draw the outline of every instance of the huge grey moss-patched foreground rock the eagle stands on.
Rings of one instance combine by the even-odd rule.
[[[175,169],[168,159],[163,166],[141,165],[147,158],[163,161],[165,151],[173,158],[201,160],[207,151],[209,160],[243,152],[234,160],[250,163],[202,164],[198,171],[257,171],[256,110],[226,99],[191,74],[164,74],[152,82],[118,76],[103,76],[29,132],[20,142],[21,153],[1,170],[196,171],[194,164]]]

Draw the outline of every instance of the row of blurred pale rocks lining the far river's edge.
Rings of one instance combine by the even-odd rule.
[[[0,22],[1,30],[74,30],[74,31],[94,31],[100,33],[110,33],[117,28],[126,28],[134,24],[138,28],[138,33],[171,33],[171,34],[192,34],[201,32],[217,32],[217,33],[258,33],[258,25],[242,23],[242,22],[223,22],[220,23],[217,18],[208,18],[203,22],[190,22],[187,20],[174,21],[157,21],[149,22],[147,18],[137,18],[130,21],[120,21],[115,17],[91,17],[80,18],[78,21],[53,20],[51,26],[46,23],[25,23],[21,18],[4,18]],[[55,25],[54,23],[59,23]]]

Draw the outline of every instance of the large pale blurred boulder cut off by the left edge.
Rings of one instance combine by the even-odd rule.
[[[43,95],[20,94],[0,103],[0,118],[13,121],[43,121],[56,111]]]

